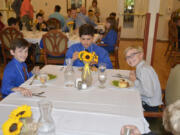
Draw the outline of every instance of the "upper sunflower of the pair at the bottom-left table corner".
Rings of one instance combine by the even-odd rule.
[[[31,117],[31,115],[32,115],[31,107],[28,105],[22,105],[11,112],[10,118],[14,118],[14,117],[27,118],[27,117]]]

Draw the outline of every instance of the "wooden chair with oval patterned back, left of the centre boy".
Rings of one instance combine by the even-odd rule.
[[[51,30],[43,35],[43,55],[45,64],[64,64],[68,38],[59,30]]]

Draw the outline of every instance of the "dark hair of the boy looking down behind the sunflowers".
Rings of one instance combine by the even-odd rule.
[[[94,27],[90,24],[83,24],[79,28],[79,36],[91,35],[94,36]]]

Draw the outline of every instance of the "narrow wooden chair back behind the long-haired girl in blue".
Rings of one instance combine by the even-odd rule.
[[[118,28],[118,34],[117,34],[117,41],[114,47],[114,54],[115,54],[115,68],[119,69],[119,44],[120,44],[120,38],[121,38],[121,27]]]

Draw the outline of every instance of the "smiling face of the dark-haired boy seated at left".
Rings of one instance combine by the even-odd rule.
[[[10,52],[11,52],[11,55],[13,55],[16,60],[18,60],[19,62],[25,62],[28,56],[28,47],[16,48],[15,51],[10,50]]]

